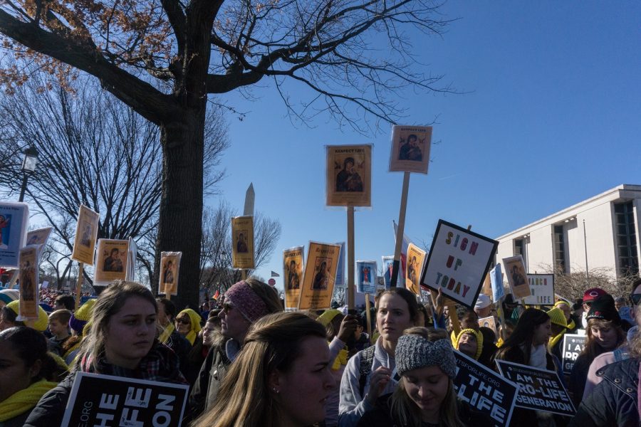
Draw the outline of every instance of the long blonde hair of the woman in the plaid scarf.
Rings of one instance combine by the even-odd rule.
[[[105,353],[105,336],[109,320],[123,308],[130,297],[140,297],[147,300],[154,306],[156,313],[158,312],[156,299],[150,290],[140,283],[125,282],[125,280],[115,281],[103,290],[95,301],[91,320],[85,327],[87,332],[80,345],[78,357],[75,358],[74,367],[78,367],[86,357],[93,369],[98,369],[100,357]]]

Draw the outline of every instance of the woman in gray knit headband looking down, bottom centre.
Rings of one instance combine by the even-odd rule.
[[[392,394],[380,397],[358,426],[494,426],[486,413],[457,399],[457,363],[444,330],[412,327],[398,339],[396,367],[401,379]]]

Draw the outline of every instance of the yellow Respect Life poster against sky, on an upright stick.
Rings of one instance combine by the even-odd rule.
[[[372,146],[327,147],[328,206],[372,206]]]

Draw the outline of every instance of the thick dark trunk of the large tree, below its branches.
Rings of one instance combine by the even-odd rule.
[[[198,307],[205,108],[206,101],[197,110],[184,107],[182,115],[160,125],[163,191],[157,255],[182,252],[178,295],[172,297],[179,309]],[[160,256],[155,264],[152,290],[157,292]]]

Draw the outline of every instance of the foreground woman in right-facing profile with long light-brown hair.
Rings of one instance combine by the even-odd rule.
[[[298,312],[256,321],[215,406],[196,427],[305,427],[323,421],[335,388],[325,327]]]

